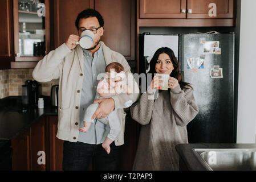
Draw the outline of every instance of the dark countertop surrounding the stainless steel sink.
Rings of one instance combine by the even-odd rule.
[[[198,143],[198,144],[177,144],[176,151],[180,158],[186,164],[186,167],[192,171],[206,171],[206,168],[200,163],[193,152],[193,148],[256,148],[256,144],[243,143]]]

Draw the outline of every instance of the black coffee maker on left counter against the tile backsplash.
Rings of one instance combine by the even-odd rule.
[[[22,85],[22,104],[23,110],[29,107],[38,106],[38,98],[41,95],[41,86],[35,80],[27,80]]]

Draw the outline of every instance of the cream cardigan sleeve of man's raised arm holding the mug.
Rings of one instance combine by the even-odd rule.
[[[64,57],[70,52],[71,50],[68,49],[65,43],[51,51],[38,62],[32,72],[32,77],[38,82],[58,79],[62,73]]]

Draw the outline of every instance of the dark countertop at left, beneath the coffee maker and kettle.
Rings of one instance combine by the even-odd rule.
[[[44,115],[58,115],[58,108],[50,105],[50,97],[44,97],[44,109],[31,108],[22,112],[21,96],[0,100],[0,140],[12,140]]]

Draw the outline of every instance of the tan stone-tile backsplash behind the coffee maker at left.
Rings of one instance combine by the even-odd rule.
[[[22,85],[26,80],[32,80],[33,69],[8,69],[0,70],[0,98],[8,96],[22,96]],[[40,83],[42,94],[50,96],[51,86],[58,85],[59,80]]]

